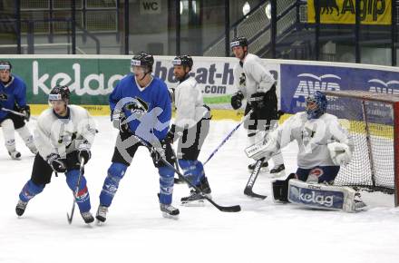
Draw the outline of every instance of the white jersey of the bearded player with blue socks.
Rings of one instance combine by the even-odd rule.
[[[180,83],[175,92],[176,126],[191,128],[199,122],[208,109],[205,108],[204,99],[199,84],[193,77]]]

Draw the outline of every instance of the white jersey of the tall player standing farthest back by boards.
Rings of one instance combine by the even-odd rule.
[[[234,85],[247,99],[253,93],[267,93],[276,83],[260,58],[255,54],[247,54],[242,66],[238,62],[234,67],[233,74]]]

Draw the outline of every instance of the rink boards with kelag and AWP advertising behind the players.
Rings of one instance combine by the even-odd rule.
[[[169,87],[173,78],[172,56],[155,56],[153,73]],[[13,64],[13,73],[27,85],[27,100],[33,113],[47,107],[47,94],[55,84],[66,84],[72,102],[81,104],[92,115],[108,115],[108,95],[123,75],[130,73],[129,55],[5,55],[0,60]],[[236,58],[193,57],[192,74],[204,99],[212,108],[214,119],[238,120],[242,112],[232,111],[229,100],[236,92],[233,67]],[[305,98],[315,90],[364,90],[399,95],[399,68],[313,61],[262,60],[277,79],[281,110],[304,110]]]

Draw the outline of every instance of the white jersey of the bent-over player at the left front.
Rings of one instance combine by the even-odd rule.
[[[92,146],[96,130],[89,112],[77,105],[68,108],[68,119],[59,119],[53,108],[42,112],[37,119],[34,143],[44,160],[51,153],[66,158],[67,153],[77,150],[83,142]]]

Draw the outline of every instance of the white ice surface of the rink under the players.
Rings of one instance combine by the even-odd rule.
[[[95,120],[100,132],[85,173],[93,214],[117,134],[109,117]],[[206,160],[237,123],[212,122],[199,160]],[[32,129],[34,125],[29,122]],[[239,204],[242,211],[224,213],[209,203],[181,207],[180,198],[189,190],[180,184],[175,185],[173,196],[180,219],[162,218],[159,176],[148,151],[141,147],[102,226],[85,225],[79,212],[68,225],[66,213],[72,208],[73,195],[63,174],[53,177],[44,192],[30,201],[24,216],[17,218],[15,204],[30,178],[34,156],[16,137],[21,161],[10,159],[0,134],[1,263],[399,262],[399,209],[394,209],[393,196],[364,193],[370,209],[359,213],[302,209],[275,204],[270,197],[245,196],[249,161],[243,151],[246,132],[242,128],[205,165],[213,200],[221,205]],[[295,171],[295,144],[283,155],[287,173]],[[267,173],[260,174],[254,191],[269,195],[270,180]]]

